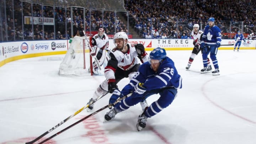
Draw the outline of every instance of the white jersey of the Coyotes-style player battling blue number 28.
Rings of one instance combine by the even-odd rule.
[[[118,68],[127,71],[133,68],[134,65],[139,64],[140,60],[138,58],[138,53],[134,45],[127,44],[128,50],[126,53],[121,52],[117,48],[110,51],[110,60],[105,67],[105,77],[106,79],[115,79],[114,73]],[[149,59],[149,55],[146,54],[142,58],[142,62],[145,63]]]

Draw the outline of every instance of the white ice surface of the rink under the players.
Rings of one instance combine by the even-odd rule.
[[[149,53],[149,52],[148,52]],[[172,104],[140,132],[136,105],[104,122],[108,108],[57,135],[50,144],[255,144],[256,50],[219,50],[220,75],[200,74],[198,54],[186,71],[191,50],[167,51],[183,78]],[[21,59],[0,67],[0,143],[28,142],[86,106],[104,76],[58,75],[64,55]],[[119,82],[119,88],[128,84]],[[94,111],[108,104],[98,100]],[[148,98],[148,103],[159,95]],[[94,112],[92,111],[92,112]],[[92,112],[80,112],[43,139]]]

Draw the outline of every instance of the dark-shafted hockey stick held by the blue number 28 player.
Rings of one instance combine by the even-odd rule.
[[[118,103],[119,101],[121,101],[121,100],[123,100],[124,98],[127,98],[127,97],[129,97],[129,96],[131,96],[131,95],[132,95],[132,93],[130,93],[130,94],[126,95],[126,96],[123,96],[123,97],[119,98],[119,99],[116,100],[114,103],[110,103],[110,104],[108,104],[108,105],[106,105],[106,106],[104,106],[104,107],[98,109],[98,110],[95,111],[94,113],[91,113],[91,114],[89,114],[88,116],[86,116],[86,117],[80,119],[79,121],[77,121],[77,122],[71,124],[70,126],[68,126],[68,127],[64,128],[64,129],[60,130],[59,132],[55,133],[54,135],[50,136],[49,138],[43,140],[42,142],[40,142],[40,143],[38,143],[38,144],[42,144],[42,143],[44,143],[44,142],[46,142],[46,141],[48,141],[48,140],[54,138],[55,136],[57,136],[57,135],[59,135],[59,134],[65,132],[65,131],[68,130],[69,128],[75,126],[76,124],[78,124],[78,123],[84,121],[85,119],[87,119],[87,118],[89,118],[89,117],[91,117],[91,116],[94,116],[96,113],[98,113],[98,112],[104,110],[105,108],[108,108],[108,107],[110,107],[110,106],[116,105],[116,103]]]

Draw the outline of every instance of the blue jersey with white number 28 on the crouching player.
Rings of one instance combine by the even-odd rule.
[[[124,87],[122,94],[129,94],[130,91],[134,90],[133,87],[138,82],[144,83],[143,87],[147,91],[164,87],[182,88],[182,78],[178,74],[174,62],[168,57],[161,62],[157,72],[151,68],[149,62],[143,63],[137,74],[130,80],[130,83]]]

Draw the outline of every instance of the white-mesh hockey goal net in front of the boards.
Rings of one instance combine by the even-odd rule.
[[[75,36],[59,67],[62,76],[92,75],[92,58],[90,56],[90,37]]]

